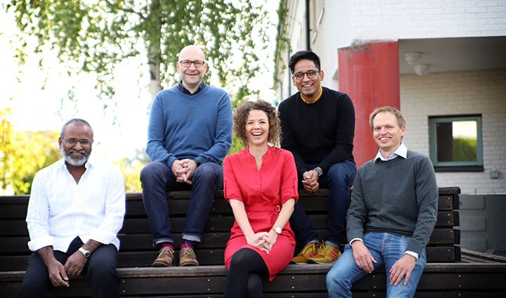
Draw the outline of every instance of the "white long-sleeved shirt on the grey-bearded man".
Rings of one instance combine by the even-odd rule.
[[[117,233],[125,212],[122,173],[116,165],[96,160],[88,160],[85,167],[79,183],[64,160],[35,175],[26,218],[33,252],[50,245],[66,252],[76,236],[119,250]]]

